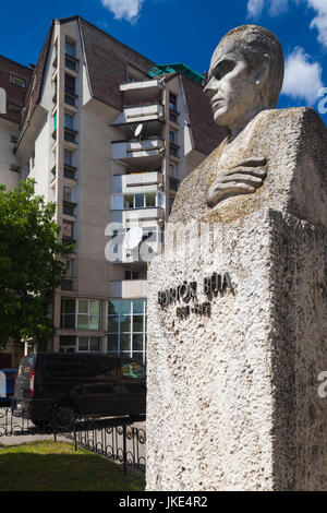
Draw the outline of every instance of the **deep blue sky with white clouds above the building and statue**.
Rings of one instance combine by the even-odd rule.
[[[201,73],[208,70],[213,50],[230,28],[244,23],[266,26],[279,37],[286,57],[279,107],[311,105],[327,123],[327,0],[15,0],[3,3],[0,53],[23,64],[36,62],[53,17],[74,14],[157,63],[184,62]]]

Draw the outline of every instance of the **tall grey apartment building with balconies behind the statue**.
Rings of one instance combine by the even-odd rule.
[[[146,361],[147,261],[182,179],[225,136],[202,81],[80,16],[53,20],[35,67],[0,58],[0,182],[35,178],[75,243],[49,350]]]

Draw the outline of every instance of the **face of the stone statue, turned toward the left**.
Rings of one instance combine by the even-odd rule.
[[[222,44],[216,48],[204,92],[210,98],[217,124],[232,130],[255,111],[256,72],[234,45]]]

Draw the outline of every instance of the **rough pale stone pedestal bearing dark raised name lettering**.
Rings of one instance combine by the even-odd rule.
[[[327,489],[327,203],[308,204],[301,172],[319,171],[293,163],[284,190],[276,167],[192,226],[195,179],[179,193],[148,271],[147,490]]]

